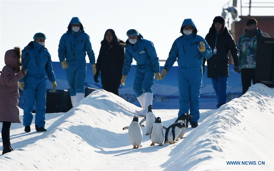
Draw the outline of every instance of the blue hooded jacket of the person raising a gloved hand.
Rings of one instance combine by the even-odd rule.
[[[194,32],[189,36],[183,33],[183,26],[191,25],[195,28]],[[181,26],[182,36],[178,37],[169,52],[169,57],[165,62],[164,69],[167,71],[173,66],[174,62],[178,58],[178,65],[180,68],[192,68],[201,67],[203,64],[203,58],[210,58],[212,56],[211,48],[205,39],[197,35],[197,28],[192,19],[185,19]],[[205,51],[200,52],[197,48],[200,47],[200,42],[204,42]]]

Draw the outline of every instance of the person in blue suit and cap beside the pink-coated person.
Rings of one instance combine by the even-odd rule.
[[[36,131],[47,131],[45,129],[46,111],[46,79],[52,83],[53,91],[57,84],[52,69],[52,60],[48,49],[45,48],[46,36],[44,33],[36,33],[31,41],[22,50],[22,67],[27,70],[27,75],[20,80],[19,88],[24,94],[23,125],[25,132],[30,132],[33,119],[32,110],[35,100],[35,129]]]

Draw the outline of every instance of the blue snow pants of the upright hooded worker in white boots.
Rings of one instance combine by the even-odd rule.
[[[70,96],[76,96],[78,92],[85,93],[84,84],[87,74],[86,61],[71,61],[67,63],[68,68],[65,69],[65,72],[69,83]]]

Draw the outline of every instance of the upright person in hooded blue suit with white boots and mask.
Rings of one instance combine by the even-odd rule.
[[[69,94],[72,106],[84,99],[84,83],[87,73],[86,54],[92,66],[93,75],[96,74],[95,56],[91,48],[91,41],[78,17],[73,17],[68,31],[62,35],[58,57],[65,69],[69,83]]]

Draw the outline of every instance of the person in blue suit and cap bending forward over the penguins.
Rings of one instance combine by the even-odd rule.
[[[140,116],[146,116],[148,106],[152,105],[153,92],[151,86],[157,80],[161,79],[159,58],[157,57],[155,47],[149,40],[143,38],[135,29],[126,32],[128,39],[126,40],[125,59],[122,72],[122,85],[125,85],[126,75],[130,71],[132,59],[137,62],[135,66],[135,79],[133,82],[133,91],[143,108],[136,111]]]

